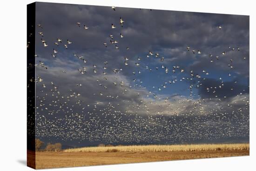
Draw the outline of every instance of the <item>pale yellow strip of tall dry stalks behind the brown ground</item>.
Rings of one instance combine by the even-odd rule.
[[[219,151],[249,150],[249,144],[199,144],[199,145],[125,145],[81,147],[64,152],[168,152],[168,151]]]

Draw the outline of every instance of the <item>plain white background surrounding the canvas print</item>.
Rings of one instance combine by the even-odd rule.
[[[255,32],[256,4],[253,0],[41,0],[72,4],[137,7],[250,15],[250,156],[212,158],[144,164],[117,164],[76,167],[58,171],[131,171],[131,170],[253,170],[255,151]],[[0,4],[0,170],[29,171],[26,166],[27,107],[27,4],[32,0],[2,0]],[[93,20],[93,19],[92,19]],[[254,54],[253,54],[254,53]],[[245,67],[245,66],[241,66]]]

